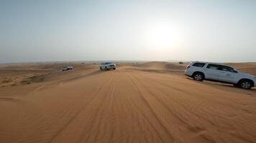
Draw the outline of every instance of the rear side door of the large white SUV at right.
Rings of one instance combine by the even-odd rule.
[[[218,64],[208,64],[204,69],[206,79],[219,80],[219,68]]]

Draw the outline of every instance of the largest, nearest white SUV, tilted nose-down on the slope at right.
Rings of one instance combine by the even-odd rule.
[[[242,89],[250,89],[256,85],[256,77],[237,71],[231,66],[201,61],[193,61],[186,67],[185,75],[197,81],[204,79],[214,82],[234,84]]]

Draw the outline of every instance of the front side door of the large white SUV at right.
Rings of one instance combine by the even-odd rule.
[[[234,72],[234,69],[230,66],[220,66],[220,74],[219,74],[219,80],[221,82],[229,82],[229,83],[235,83],[236,82],[236,74]]]

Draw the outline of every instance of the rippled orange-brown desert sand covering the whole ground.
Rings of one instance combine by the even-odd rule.
[[[63,65],[0,67],[0,142],[256,142],[255,88],[193,81],[186,64]]]

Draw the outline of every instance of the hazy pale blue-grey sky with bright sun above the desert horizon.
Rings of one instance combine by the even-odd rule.
[[[256,61],[256,1],[0,0],[0,63]]]

